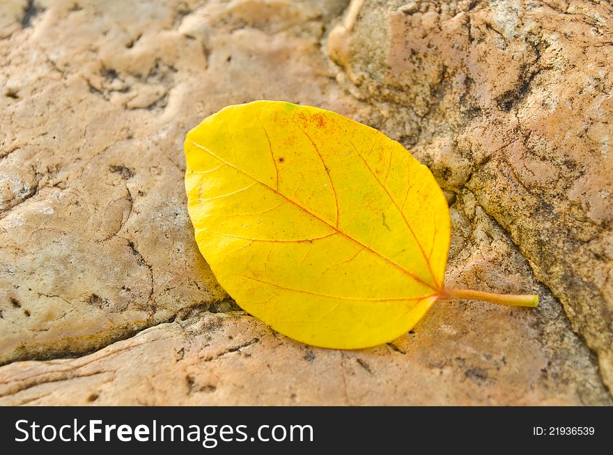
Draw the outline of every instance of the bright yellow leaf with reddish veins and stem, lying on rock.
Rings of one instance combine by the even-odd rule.
[[[242,309],[288,337],[374,346],[437,299],[494,300],[444,288],[447,201],[427,167],[373,128],[256,101],[205,118],[185,155],[200,251]]]

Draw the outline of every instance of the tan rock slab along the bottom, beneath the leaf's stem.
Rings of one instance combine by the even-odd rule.
[[[0,405],[612,404],[561,305],[472,193],[451,213],[448,282],[538,292],[536,311],[442,302],[393,343],[341,351],[292,341],[226,303],[78,359],[1,367]]]

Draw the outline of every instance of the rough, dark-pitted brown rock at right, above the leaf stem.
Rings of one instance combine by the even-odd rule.
[[[470,190],[561,299],[613,387],[613,7],[352,1],[339,81],[447,190]]]

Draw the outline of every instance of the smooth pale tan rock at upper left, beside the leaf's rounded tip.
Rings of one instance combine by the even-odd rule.
[[[0,362],[226,297],[185,210],[187,130],[258,98],[356,105],[319,52],[343,3],[269,3],[36,1],[23,26],[17,8],[0,41]]]

